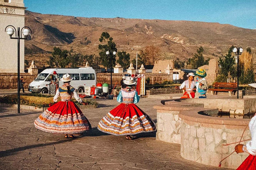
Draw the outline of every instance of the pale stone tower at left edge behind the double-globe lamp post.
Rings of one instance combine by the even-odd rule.
[[[10,39],[4,31],[7,25],[23,28],[25,7],[23,0],[0,0],[0,72],[17,73],[18,40]],[[15,37],[15,33],[13,35]],[[20,40],[20,72],[24,72],[24,40]]]

